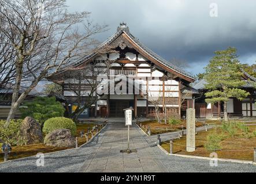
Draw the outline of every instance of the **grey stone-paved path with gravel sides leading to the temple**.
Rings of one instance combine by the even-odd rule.
[[[181,158],[164,154],[140,129],[131,127],[131,148],[138,152],[120,153],[127,148],[124,122],[110,122],[95,139],[79,149],[45,155],[44,167],[36,166],[36,156],[0,163],[0,172],[256,172],[256,166]]]

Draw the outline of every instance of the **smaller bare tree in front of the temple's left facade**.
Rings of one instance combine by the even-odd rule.
[[[85,109],[97,103],[97,90],[101,87],[103,81],[103,78],[98,78],[98,76],[107,76],[110,63],[112,62],[110,60],[94,60],[78,68],[69,68],[65,72],[65,89],[76,95],[73,103],[76,103],[77,108],[69,114],[74,121],[78,120],[79,115]],[[96,105],[95,110],[97,110]]]

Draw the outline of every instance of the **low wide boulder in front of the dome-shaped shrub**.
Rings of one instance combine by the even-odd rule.
[[[76,140],[69,129],[57,129],[44,137],[44,144],[55,147],[75,147]]]

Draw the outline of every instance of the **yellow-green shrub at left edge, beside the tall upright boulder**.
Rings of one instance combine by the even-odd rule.
[[[9,143],[11,145],[22,144],[18,136],[22,121],[23,120],[10,120],[9,127],[5,128],[3,125],[6,120],[0,120],[0,143]]]

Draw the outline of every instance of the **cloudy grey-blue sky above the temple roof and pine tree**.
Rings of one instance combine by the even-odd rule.
[[[191,74],[203,72],[213,52],[228,46],[238,49],[242,63],[256,61],[254,0],[67,0],[67,3],[69,11],[90,11],[92,21],[109,25],[107,32],[98,34],[99,41],[116,33],[117,26],[124,21],[133,36],[158,55],[166,60],[186,60]],[[212,3],[217,4],[217,17],[210,16]]]

